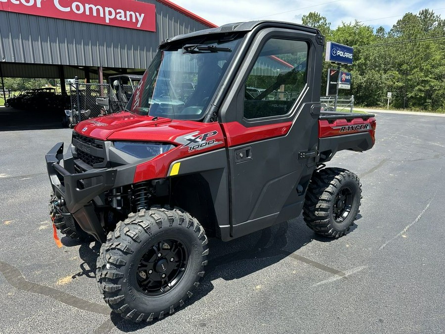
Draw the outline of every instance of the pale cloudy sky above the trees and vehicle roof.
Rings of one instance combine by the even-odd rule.
[[[407,12],[429,8],[445,18],[444,0],[172,0],[179,6],[223,25],[226,23],[269,19],[301,23],[303,15],[316,11],[335,29],[354,20],[389,30]]]

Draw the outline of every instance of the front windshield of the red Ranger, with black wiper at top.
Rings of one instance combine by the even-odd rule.
[[[240,39],[213,37],[160,50],[134,92],[131,112],[171,119],[203,118]]]

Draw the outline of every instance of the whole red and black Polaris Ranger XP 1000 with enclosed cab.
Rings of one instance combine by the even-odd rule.
[[[46,154],[54,225],[102,243],[96,278],[124,318],[178,310],[198,288],[208,237],[295,218],[343,236],[357,176],[324,168],[375,142],[370,114],[320,111],[323,36],[282,22],[224,25],[159,47],[130,110],[86,120]],[[193,93],[175,87],[192,83]]]

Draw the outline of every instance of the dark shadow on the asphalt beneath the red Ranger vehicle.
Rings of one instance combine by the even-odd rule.
[[[210,255],[209,264],[205,268],[206,275],[193,297],[188,299],[181,309],[192,305],[212,291],[214,288],[212,281],[216,279],[222,278],[225,281],[230,281],[245,277],[281,261],[310,243],[313,239],[322,242],[332,240],[316,237],[312,231],[309,229],[304,230],[301,225],[302,224],[299,223],[290,224],[284,222],[229,242],[210,239]],[[86,276],[95,279],[96,260],[99,249],[100,244],[98,242],[91,244],[84,243],[81,245],[79,255],[84,262],[81,264],[81,271],[75,276]],[[114,312],[110,312],[110,321],[123,332],[133,332],[153,325],[159,320],[150,323],[135,324],[122,319]]]

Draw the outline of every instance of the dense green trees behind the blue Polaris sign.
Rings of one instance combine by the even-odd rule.
[[[386,106],[387,92],[392,92],[395,108],[445,112],[445,39],[410,42],[445,35],[445,20],[432,10],[406,13],[389,31],[379,27],[374,32],[358,21],[331,30],[326,18],[313,12],[303,16],[303,24],[320,29],[327,41],[354,47],[354,65],[343,70],[353,74],[350,93],[357,104]],[[322,77],[330,66],[323,65]]]

